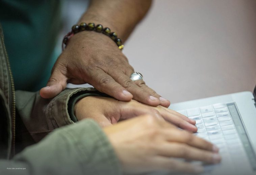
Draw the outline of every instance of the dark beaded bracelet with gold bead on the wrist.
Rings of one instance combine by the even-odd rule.
[[[81,31],[96,31],[99,33],[103,33],[107,36],[109,36],[118,46],[118,48],[120,50],[122,50],[124,48],[124,45],[122,44],[122,40],[120,38],[117,37],[117,33],[116,32],[111,32],[111,30],[108,27],[103,28],[103,26],[101,24],[98,24],[97,26],[95,26],[94,23],[88,23],[86,25],[86,23],[81,23],[80,25],[74,25],[72,26],[72,31],[69,32],[62,41],[62,50],[64,50],[64,45],[67,46],[69,39],[74,36],[74,34],[81,32]]]

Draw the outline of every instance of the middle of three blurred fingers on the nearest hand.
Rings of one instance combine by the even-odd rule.
[[[184,143],[165,142],[159,144],[157,149],[159,155],[167,157],[179,157],[211,164],[216,164],[221,161],[221,156],[218,153],[195,148]]]

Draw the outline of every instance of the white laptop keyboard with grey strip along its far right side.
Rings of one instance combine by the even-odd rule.
[[[198,132],[195,135],[212,142],[220,148],[222,165],[226,164],[226,167],[231,168],[239,167],[241,163],[247,163],[249,166],[247,168],[256,168],[255,154],[234,102],[213,104],[177,112],[196,120]],[[251,159],[248,158],[248,155],[251,156]],[[207,168],[211,171],[212,167],[216,166],[220,168],[220,165],[208,166]]]

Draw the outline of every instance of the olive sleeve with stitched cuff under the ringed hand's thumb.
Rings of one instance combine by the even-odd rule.
[[[97,94],[100,93],[94,88],[77,88],[62,91],[53,99],[43,99],[39,92],[16,91],[16,133],[20,135],[17,139],[22,138],[18,142],[22,142],[23,138],[28,142],[38,142],[54,129],[74,124],[68,111],[69,105],[74,106],[70,103],[70,98]],[[20,126],[22,127],[19,128]],[[24,144],[27,145],[29,144]]]

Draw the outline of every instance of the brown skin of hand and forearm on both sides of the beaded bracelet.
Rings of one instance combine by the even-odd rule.
[[[78,24],[102,24],[117,32],[124,42],[150,5],[150,0],[92,0]],[[53,98],[66,88],[67,82],[89,83],[121,101],[134,99],[150,106],[170,105],[170,101],[149,88],[143,80],[131,81],[129,77],[133,72],[128,59],[108,36],[82,31],[70,38],[40,95]]]

